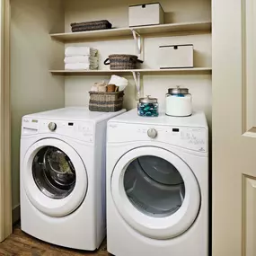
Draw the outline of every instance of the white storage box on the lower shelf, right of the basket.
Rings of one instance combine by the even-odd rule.
[[[194,46],[169,45],[159,47],[159,66],[163,68],[184,68],[194,66]]]

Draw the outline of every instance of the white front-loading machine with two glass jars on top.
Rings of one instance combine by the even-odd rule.
[[[208,255],[208,128],[191,117],[111,119],[107,136],[108,251]]]

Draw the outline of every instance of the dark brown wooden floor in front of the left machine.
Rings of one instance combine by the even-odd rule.
[[[16,225],[11,234],[3,243],[0,243],[0,255],[2,256],[110,256],[104,241],[97,252],[84,252],[69,250],[63,247],[44,243],[22,232],[20,225]]]

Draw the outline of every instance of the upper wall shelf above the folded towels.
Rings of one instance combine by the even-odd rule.
[[[137,31],[141,35],[147,37],[155,34],[165,34],[171,32],[192,32],[192,31],[211,31],[211,22],[183,22],[171,23],[154,26],[111,29],[102,31],[83,31],[50,34],[51,38],[61,42],[72,42],[77,40],[97,40],[108,38],[132,37],[131,30]]]

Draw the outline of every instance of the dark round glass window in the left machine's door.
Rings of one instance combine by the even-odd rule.
[[[34,156],[33,179],[51,199],[64,199],[75,188],[75,168],[70,158],[54,146],[46,146]]]

